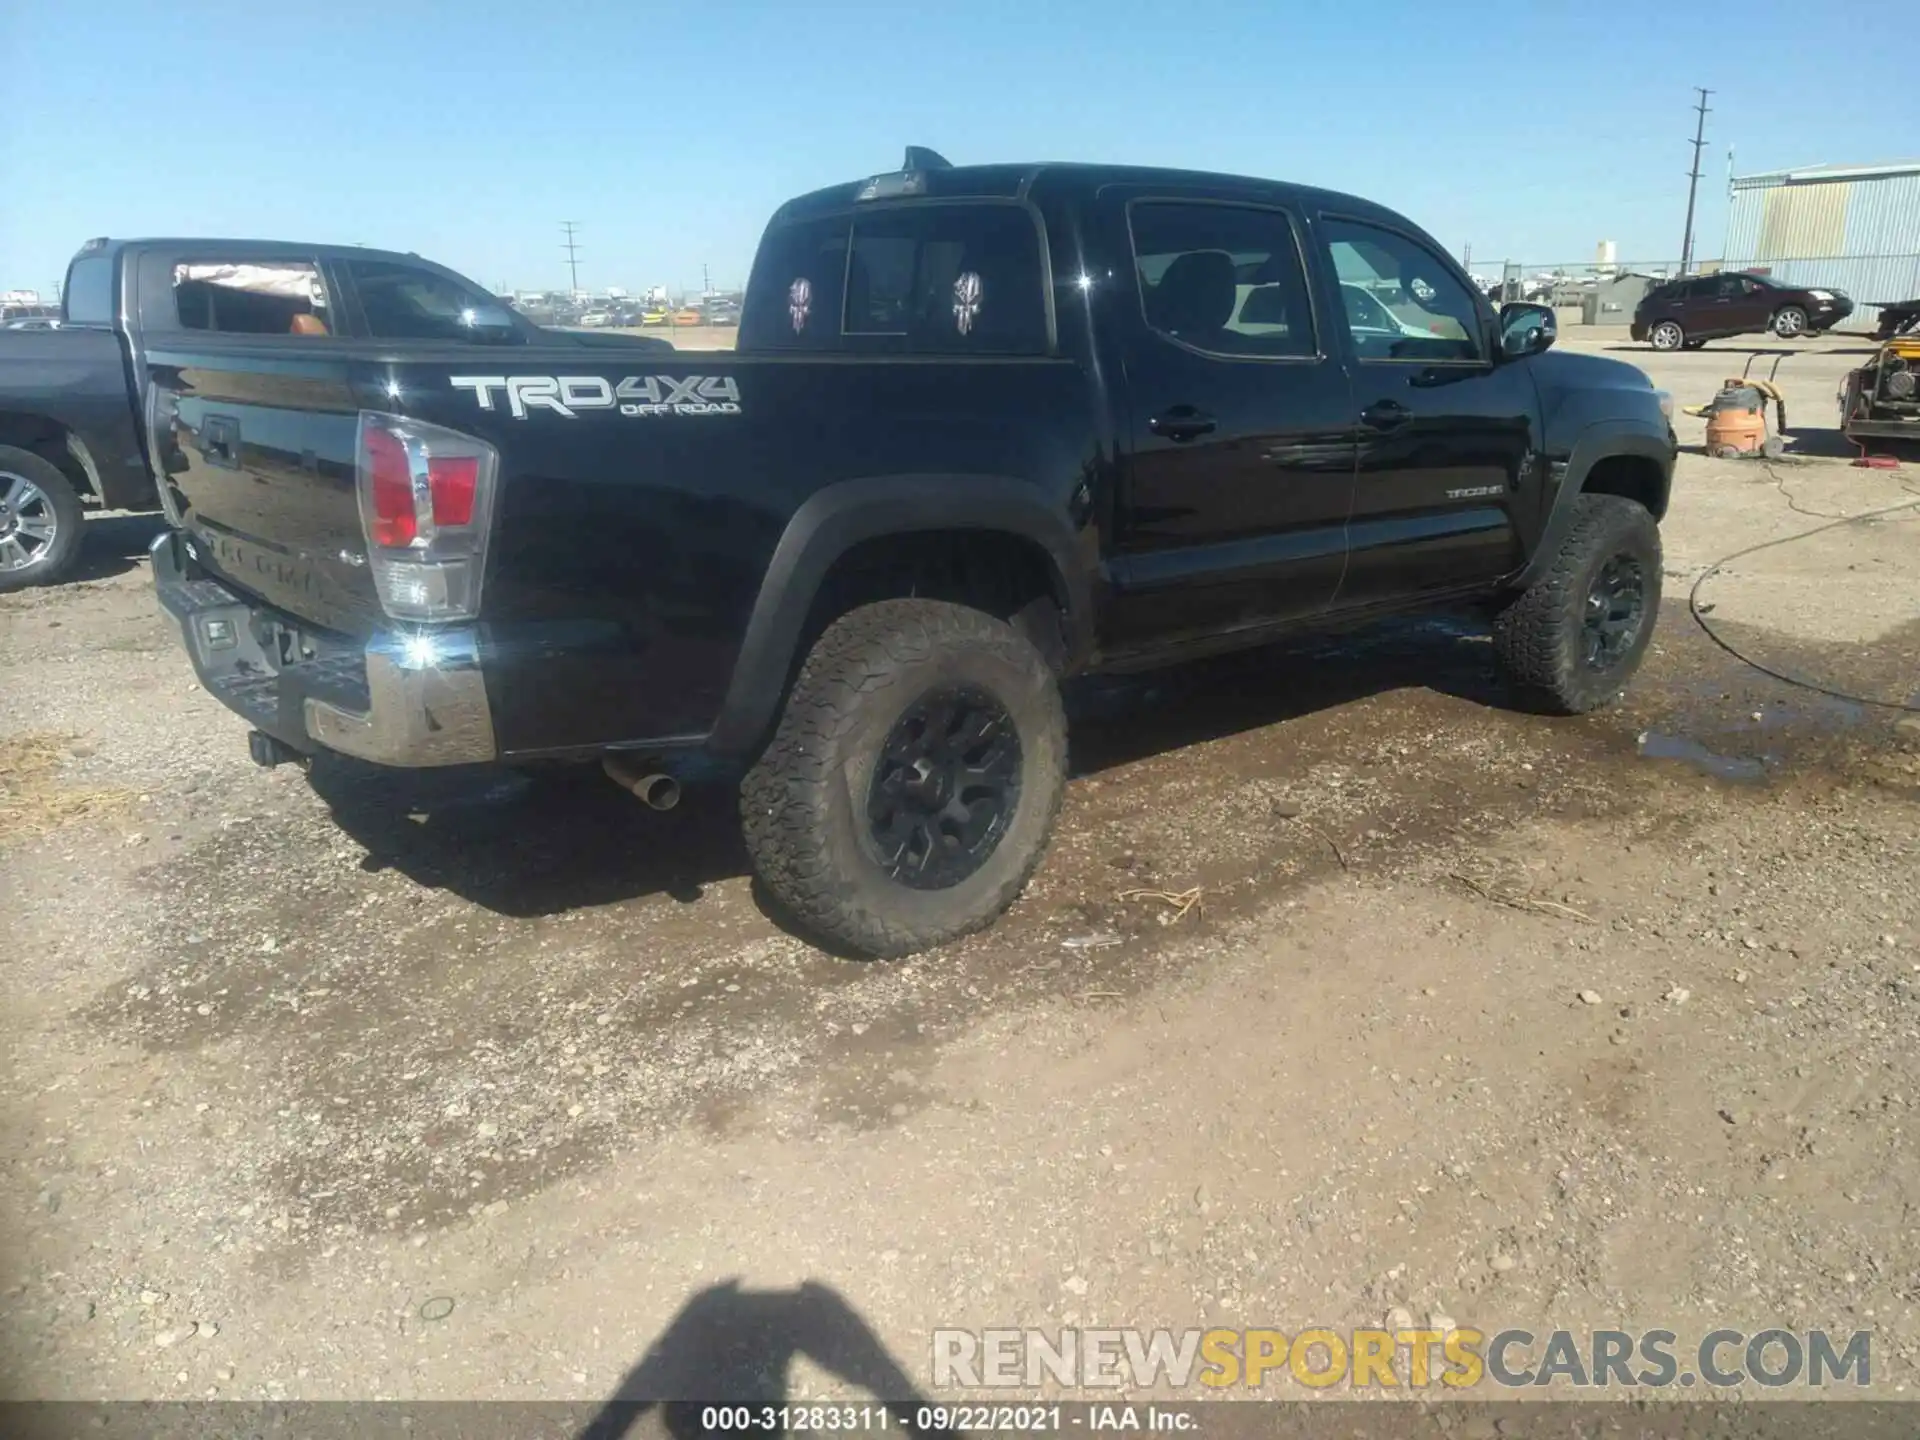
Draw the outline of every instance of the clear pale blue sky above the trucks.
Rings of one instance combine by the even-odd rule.
[[[50,288],[92,234],[559,288],[563,219],[582,286],[730,284],[776,204],[910,142],[1327,184],[1476,267],[1667,259],[1693,84],[1711,257],[1730,144],[1741,173],[1920,152],[1868,96],[1910,44],[1905,8],[1836,0],[4,0],[0,288]]]

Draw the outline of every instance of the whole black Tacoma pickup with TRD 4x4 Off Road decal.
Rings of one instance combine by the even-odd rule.
[[[1031,876],[1066,676],[1486,601],[1528,705],[1617,695],[1670,397],[1551,342],[1365,200],[910,150],[774,215],[735,353],[150,342],[154,574],[255,758],[732,760],[897,956]]]

